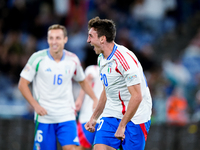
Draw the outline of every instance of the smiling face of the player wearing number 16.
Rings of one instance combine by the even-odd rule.
[[[52,29],[48,31],[48,44],[50,51],[53,53],[60,52],[64,49],[65,43],[67,43],[67,37],[61,29]]]

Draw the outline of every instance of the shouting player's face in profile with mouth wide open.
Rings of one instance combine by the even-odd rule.
[[[102,53],[100,38],[98,38],[97,31],[95,31],[94,28],[91,28],[88,31],[87,42],[90,43],[91,46],[94,46],[94,51],[96,54]]]

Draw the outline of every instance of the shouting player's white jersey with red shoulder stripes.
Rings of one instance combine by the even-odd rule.
[[[126,47],[115,44],[107,59],[103,54],[99,55],[98,64],[107,96],[102,116],[122,119],[131,97],[127,87],[140,84],[142,102],[131,121],[141,124],[150,120],[152,99],[142,66],[135,54]]]

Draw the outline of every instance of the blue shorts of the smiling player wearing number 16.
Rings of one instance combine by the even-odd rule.
[[[39,123],[33,150],[57,150],[57,139],[61,146],[79,145],[76,121],[56,124]]]

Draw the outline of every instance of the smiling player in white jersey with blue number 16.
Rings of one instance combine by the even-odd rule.
[[[35,110],[34,150],[56,150],[57,139],[63,150],[75,150],[79,145],[72,79],[90,95],[94,106],[98,101],[78,57],[64,49],[67,40],[64,26],[50,26],[49,48],[35,52],[20,74],[18,88]]]

